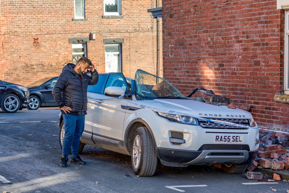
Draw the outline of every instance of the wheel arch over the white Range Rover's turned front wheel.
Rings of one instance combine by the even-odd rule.
[[[131,152],[131,147],[132,147],[132,144],[133,144],[133,136],[135,134],[136,129],[139,128],[139,127],[146,127],[148,129],[148,131],[151,134],[153,143],[154,143],[155,147],[157,147],[157,144],[156,144],[156,141],[155,141],[155,138],[154,138],[154,134],[153,134],[153,132],[151,130],[151,127],[143,119],[136,118],[132,122],[129,123],[129,125],[126,127],[126,132],[124,134],[124,141],[126,141],[126,150],[129,153]]]

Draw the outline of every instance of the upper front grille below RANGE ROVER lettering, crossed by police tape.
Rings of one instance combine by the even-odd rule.
[[[248,119],[223,119],[223,118],[206,118],[206,119],[214,119],[218,121],[226,121],[226,122],[250,126]],[[223,125],[220,123],[213,123],[213,122],[204,121],[200,119],[198,119],[198,121],[200,123],[200,126],[202,126],[203,128],[207,128],[207,129],[247,129],[246,127],[235,127],[231,125]]]

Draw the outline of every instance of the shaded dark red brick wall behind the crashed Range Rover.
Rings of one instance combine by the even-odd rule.
[[[289,104],[274,102],[284,89],[284,11],[276,0],[163,0],[162,7],[164,78],[185,95],[204,87],[251,105],[260,126],[289,130]]]

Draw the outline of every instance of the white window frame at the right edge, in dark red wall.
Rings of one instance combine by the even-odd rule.
[[[288,41],[289,41],[289,10],[285,11],[285,30],[284,30],[284,94],[289,94],[289,55],[288,55]]]

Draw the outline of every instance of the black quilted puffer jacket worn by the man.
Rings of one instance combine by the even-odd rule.
[[[87,111],[87,86],[98,82],[98,72],[95,70],[91,77],[83,74],[81,79],[74,71],[74,64],[67,64],[62,69],[53,87],[52,94],[59,108],[69,106],[71,115],[85,115]],[[62,112],[63,113],[63,112]]]

